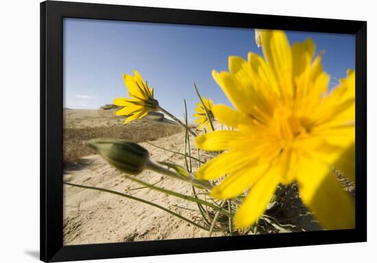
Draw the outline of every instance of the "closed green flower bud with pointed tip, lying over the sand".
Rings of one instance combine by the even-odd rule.
[[[88,146],[115,168],[129,174],[140,174],[149,159],[145,148],[121,139],[90,139]]]

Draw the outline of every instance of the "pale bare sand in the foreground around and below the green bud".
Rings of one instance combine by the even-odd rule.
[[[182,145],[182,134],[173,135],[154,143],[160,146]],[[179,155],[166,153],[158,148],[148,148],[156,161],[180,161]],[[178,150],[178,149],[177,149]],[[191,185],[170,179],[156,172],[144,171],[138,179],[158,183],[182,194],[192,194]],[[145,198],[167,207],[178,214],[195,219],[197,205],[179,198],[149,190],[125,179],[121,172],[110,167],[98,155],[84,157],[77,165],[69,165],[64,172],[64,181],[69,183],[104,187],[117,192]],[[180,208],[182,207],[182,208]],[[103,242],[127,242],[137,240],[162,240],[171,238],[194,238],[208,236],[208,232],[175,218],[167,212],[120,196],[95,190],[83,190],[64,185],[64,244],[93,244]]]

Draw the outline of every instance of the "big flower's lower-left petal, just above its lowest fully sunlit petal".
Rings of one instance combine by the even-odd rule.
[[[224,179],[219,185],[212,188],[210,195],[218,199],[234,198],[242,194],[253,183],[256,183],[260,176],[265,175],[269,164],[259,164],[257,161],[248,161],[247,167],[237,169],[230,176]]]

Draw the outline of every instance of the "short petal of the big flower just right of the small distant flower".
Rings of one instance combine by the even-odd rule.
[[[213,115],[215,115],[216,119],[219,122],[234,128],[236,128],[241,123],[251,121],[246,116],[244,116],[243,113],[234,111],[234,109],[223,104],[214,105],[212,107],[212,113]]]

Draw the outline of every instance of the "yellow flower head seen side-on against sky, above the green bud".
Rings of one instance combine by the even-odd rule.
[[[158,101],[153,98],[153,89],[148,87],[138,71],[134,70],[134,73],[134,76],[123,74],[125,87],[128,89],[130,98],[117,98],[114,100],[115,105],[124,107],[115,112],[115,114],[127,115],[124,121],[125,124],[134,119],[141,119],[149,111],[156,111],[158,108]]]

